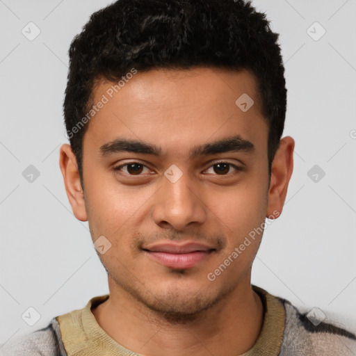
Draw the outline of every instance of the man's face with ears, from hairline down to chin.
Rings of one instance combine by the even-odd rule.
[[[104,236],[102,250],[111,245],[98,254],[111,295],[199,314],[250,286],[261,226],[282,211],[291,141],[268,186],[268,124],[247,71],[151,70],[110,97],[112,86],[95,87],[94,102],[108,102],[83,138],[83,194],[70,146],[61,148],[74,214],[93,241]],[[254,104],[236,105],[241,95]]]

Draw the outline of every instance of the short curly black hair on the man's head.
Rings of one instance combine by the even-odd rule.
[[[223,67],[257,79],[268,121],[268,172],[286,116],[284,65],[264,13],[243,0],[118,0],[93,13],[70,45],[65,126],[83,187],[85,115],[99,79],[118,82],[132,68]],[[79,123],[83,126],[79,127]],[[76,128],[76,129],[75,129]]]

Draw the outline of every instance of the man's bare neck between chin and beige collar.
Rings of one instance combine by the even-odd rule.
[[[110,298],[92,314],[125,348],[143,355],[241,355],[261,331],[264,310],[250,276],[221,300],[186,323],[170,323],[120,289],[109,278]]]

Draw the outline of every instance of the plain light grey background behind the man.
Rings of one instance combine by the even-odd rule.
[[[0,0],[0,343],[108,293],[88,224],[74,218],[58,165],[67,142],[67,51],[90,14],[108,3]],[[284,136],[296,140],[296,152],[284,211],[264,233],[252,282],[302,308],[319,307],[327,318],[355,318],[356,1],[253,3],[281,33]],[[29,22],[41,31],[33,41],[22,34]],[[307,33],[314,22],[326,30],[317,41]],[[316,38],[322,29],[310,31]],[[29,165],[40,171],[32,183],[22,176]],[[314,165],[325,171],[318,182],[307,175]],[[22,320],[29,307],[41,316],[33,326]]]

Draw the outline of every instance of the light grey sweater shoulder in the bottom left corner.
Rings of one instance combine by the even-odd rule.
[[[0,345],[0,356],[66,356],[59,325],[53,318],[40,330]]]

